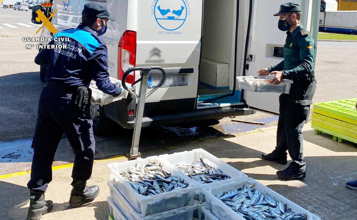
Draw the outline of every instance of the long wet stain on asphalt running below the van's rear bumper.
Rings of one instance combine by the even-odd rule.
[[[234,133],[242,133],[257,128],[268,127],[272,122],[277,121],[277,116],[256,119],[257,122],[264,122],[265,125],[246,124],[238,122],[228,122],[214,126],[159,126],[143,128],[140,136],[140,148],[155,150],[158,148],[177,148],[192,141],[205,141],[206,139],[230,137]],[[132,130],[125,130],[110,134],[107,137],[96,137],[96,156],[104,158],[112,155],[125,154],[130,150],[132,140]],[[0,163],[31,162],[33,149],[31,139],[20,139],[10,142],[0,142]],[[69,145],[66,138],[60,145]],[[70,147],[59,146],[56,153],[57,160],[67,161]],[[68,148],[68,149],[67,149]],[[61,150],[60,150],[61,149]],[[63,155],[62,155],[63,154]]]

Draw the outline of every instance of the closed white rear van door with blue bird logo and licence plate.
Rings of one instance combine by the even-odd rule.
[[[202,0],[138,2],[136,66],[161,66],[167,72],[165,85],[147,102],[166,101],[167,109],[174,104],[187,111],[195,109],[201,29]],[[149,88],[160,81],[159,77],[150,76]],[[140,78],[138,73],[135,78]]]

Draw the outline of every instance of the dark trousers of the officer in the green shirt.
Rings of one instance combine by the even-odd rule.
[[[281,159],[287,158],[286,151],[293,162],[290,167],[294,170],[306,170],[303,155],[302,127],[308,120],[310,105],[316,90],[316,81],[295,82],[291,86],[290,94],[279,97],[279,120],[276,135],[276,147],[273,153]]]

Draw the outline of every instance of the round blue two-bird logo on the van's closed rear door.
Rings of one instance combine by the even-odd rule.
[[[184,0],[157,0],[154,9],[157,24],[167,31],[179,29],[187,18],[186,2]]]

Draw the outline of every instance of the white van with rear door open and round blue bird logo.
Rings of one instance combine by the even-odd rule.
[[[58,11],[52,24],[58,31],[76,27],[88,2],[54,0],[52,11]],[[164,86],[146,99],[143,127],[216,120],[255,110],[278,113],[279,94],[241,91],[236,77],[254,76],[256,70],[281,62],[286,33],[278,30],[278,17],[273,14],[287,0],[101,2],[116,17],[102,36],[110,76],[121,79],[133,66],[161,66],[168,75]],[[320,0],[296,2],[303,9],[304,27],[317,40]],[[42,36],[49,35],[44,28]],[[156,74],[151,73],[149,91],[159,81]],[[127,82],[139,78],[137,71]],[[104,106],[93,104],[96,133],[110,129],[111,121],[133,128],[136,102],[129,94]]]

